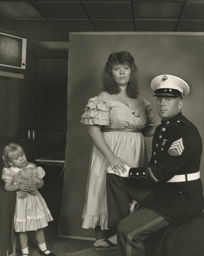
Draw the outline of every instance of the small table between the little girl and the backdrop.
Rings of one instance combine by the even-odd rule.
[[[65,153],[62,152],[54,152],[47,154],[46,156],[39,157],[36,159],[36,162],[52,165],[52,166],[63,166],[59,179],[65,170]]]

